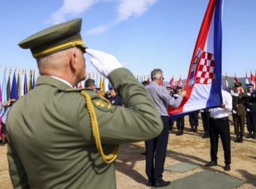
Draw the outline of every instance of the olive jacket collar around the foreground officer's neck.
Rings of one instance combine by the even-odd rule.
[[[35,86],[40,86],[40,85],[51,85],[61,90],[72,88],[69,85],[69,83],[63,82],[59,80],[59,78],[53,78],[52,76],[49,76],[49,75],[42,75],[38,77],[38,79],[36,80]]]

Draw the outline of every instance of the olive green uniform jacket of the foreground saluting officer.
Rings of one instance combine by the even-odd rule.
[[[119,143],[159,135],[162,122],[147,91],[130,71],[112,71],[109,80],[125,107],[109,105],[86,90],[96,111],[100,139],[108,154]],[[115,188],[115,164],[102,161],[91,134],[85,98],[51,76],[8,115],[8,162],[14,188]]]

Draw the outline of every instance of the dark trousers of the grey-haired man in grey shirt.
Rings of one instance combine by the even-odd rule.
[[[146,174],[149,180],[162,179],[164,172],[167,143],[169,138],[169,118],[161,116],[164,128],[158,137],[146,141]]]

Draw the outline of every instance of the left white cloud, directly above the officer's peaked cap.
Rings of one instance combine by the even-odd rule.
[[[79,16],[96,3],[98,0],[63,0],[62,7],[51,15],[49,22],[53,24],[65,22],[67,16]]]

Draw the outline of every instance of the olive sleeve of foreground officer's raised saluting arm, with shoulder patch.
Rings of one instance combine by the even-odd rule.
[[[102,143],[129,143],[158,136],[162,131],[158,110],[132,73],[124,68],[116,69],[109,74],[109,80],[122,98],[124,107],[92,99]],[[83,118],[80,123],[83,126],[88,120],[86,116],[80,117]]]

